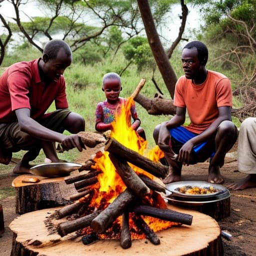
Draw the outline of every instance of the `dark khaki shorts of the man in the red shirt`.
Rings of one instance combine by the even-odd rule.
[[[58,109],[44,114],[36,121],[48,129],[62,133],[64,131],[62,122],[70,112],[69,108]],[[38,144],[40,144],[40,140],[21,131],[18,122],[0,124],[0,151],[2,153],[5,150],[11,152],[21,149],[29,150]]]

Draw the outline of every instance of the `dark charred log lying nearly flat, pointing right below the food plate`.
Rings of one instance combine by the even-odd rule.
[[[133,207],[133,211],[138,215],[147,215],[151,217],[160,218],[163,220],[179,222],[186,225],[191,225],[193,218],[193,216],[190,214],[177,212],[167,208],[156,208],[148,205],[135,205]]]

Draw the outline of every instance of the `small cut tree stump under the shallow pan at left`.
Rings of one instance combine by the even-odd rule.
[[[38,178],[37,183],[22,182],[29,178]],[[64,177],[41,177],[19,175],[12,181],[16,189],[16,213],[62,206],[70,202],[69,196],[76,193],[74,184],[66,184]]]

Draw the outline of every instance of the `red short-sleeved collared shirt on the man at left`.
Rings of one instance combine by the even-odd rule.
[[[68,107],[63,75],[45,86],[39,76],[38,61],[39,58],[14,63],[0,76],[0,123],[15,121],[14,110],[18,108],[29,108],[31,118],[36,119],[53,101],[56,109]]]

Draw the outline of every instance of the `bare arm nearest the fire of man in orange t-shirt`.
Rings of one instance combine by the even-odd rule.
[[[162,122],[158,134],[158,146],[163,151],[169,151],[170,133],[169,129],[180,126],[185,121],[185,107],[176,107],[176,114],[168,121]]]

